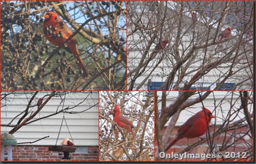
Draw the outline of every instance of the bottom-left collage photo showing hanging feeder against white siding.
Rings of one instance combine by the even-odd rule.
[[[98,92],[1,92],[1,161],[98,161]]]

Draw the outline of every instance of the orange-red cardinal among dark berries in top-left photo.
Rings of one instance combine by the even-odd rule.
[[[43,15],[43,17],[45,18],[45,21],[43,22],[43,32],[45,33],[46,39],[48,39],[48,41],[53,43],[55,46],[60,46],[60,44],[64,43],[64,41],[68,39],[70,35],[72,35],[70,28],[61,18],[59,18],[57,13],[48,12]],[[79,69],[83,72],[82,78],[85,78],[88,77],[88,73],[82,58],[79,56],[76,44],[78,44],[76,38],[73,37],[68,41],[68,43],[65,44],[64,48],[68,52],[73,53],[78,61]]]

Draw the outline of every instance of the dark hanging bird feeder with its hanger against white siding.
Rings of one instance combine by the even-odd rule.
[[[65,120],[64,115],[63,115],[63,118],[62,118],[62,123],[63,123],[63,120]],[[62,127],[62,123],[60,125],[60,129]],[[66,123],[67,129],[68,129],[68,125],[67,125],[66,120],[65,120],[65,123]],[[59,129],[59,134],[60,134],[60,129]],[[70,133],[69,129],[68,129],[68,132],[69,132],[70,137],[71,137],[71,133]],[[59,134],[58,134],[58,137],[57,137],[57,141],[59,139]],[[72,139],[72,137],[71,137],[71,139]],[[48,150],[49,151],[63,152],[64,157],[62,157],[62,159],[70,160],[71,157],[69,156],[69,154],[70,154],[70,152],[75,152],[76,151],[75,146],[68,146],[67,142],[69,141],[69,139],[67,137],[60,143],[60,145],[57,145],[57,141],[56,141],[55,145],[49,145]],[[72,141],[73,141],[73,139],[72,139]]]

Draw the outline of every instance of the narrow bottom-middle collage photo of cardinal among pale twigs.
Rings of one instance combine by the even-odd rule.
[[[153,161],[154,92],[99,93],[100,161]]]

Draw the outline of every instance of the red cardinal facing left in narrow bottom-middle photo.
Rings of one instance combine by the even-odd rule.
[[[131,132],[131,134],[133,134],[134,139],[136,139],[136,136],[135,136],[133,130],[131,129],[131,128],[134,128],[133,123],[131,123],[131,121],[129,121],[127,118],[125,118],[121,114],[118,104],[115,106],[113,111],[111,111],[111,113],[114,115],[114,121],[117,123],[117,125],[120,128],[128,129]]]

